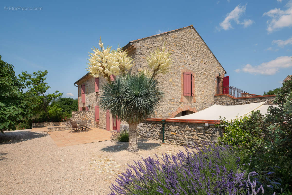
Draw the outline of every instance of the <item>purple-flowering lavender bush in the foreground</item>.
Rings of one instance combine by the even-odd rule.
[[[256,173],[245,180],[239,161],[228,146],[214,144],[164,154],[161,159],[143,158],[119,175],[109,195],[263,194],[263,187],[249,180],[249,175]]]

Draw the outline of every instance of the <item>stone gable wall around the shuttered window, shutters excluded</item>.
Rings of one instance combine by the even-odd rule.
[[[173,63],[168,74],[157,76],[165,97],[153,117],[170,118],[181,107],[201,111],[212,106],[216,77],[221,73],[223,78],[225,71],[193,27],[133,42],[136,52],[132,55],[135,62],[132,73],[147,67],[147,55],[157,47],[161,49],[164,44],[166,50],[171,52]],[[193,72],[195,81],[194,97],[184,96],[183,101],[181,70]]]

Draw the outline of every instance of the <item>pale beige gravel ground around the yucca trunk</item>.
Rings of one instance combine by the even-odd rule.
[[[47,132],[5,132],[0,134],[0,194],[104,195],[127,163],[184,150],[143,140],[137,153],[129,153],[127,145],[102,141],[59,148]]]

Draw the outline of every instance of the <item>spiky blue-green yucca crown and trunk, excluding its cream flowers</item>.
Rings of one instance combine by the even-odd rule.
[[[99,106],[113,116],[128,122],[128,151],[137,152],[137,126],[143,120],[154,115],[164,92],[158,87],[155,78],[144,73],[117,77],[102,87]]]

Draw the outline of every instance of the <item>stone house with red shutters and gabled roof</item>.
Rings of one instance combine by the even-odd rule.
[[[226,71],[192,25],[130,41],[123,49],[134,59],[131,73],[144,70],[150,51],[164,45],[171,52],[172,65],[167,75],[157,76],[165,97],[153,118],[173,118],[201,111],[214,105],[215,99],[220,102],[225,98],[216,94],[229,95]],[[94,112],[95,127],[119,130],[119,119],[98,107],[99,90],[105,82],[105,78],[94,78],[87,73],[74,83],[78,87],[79,111]]]

